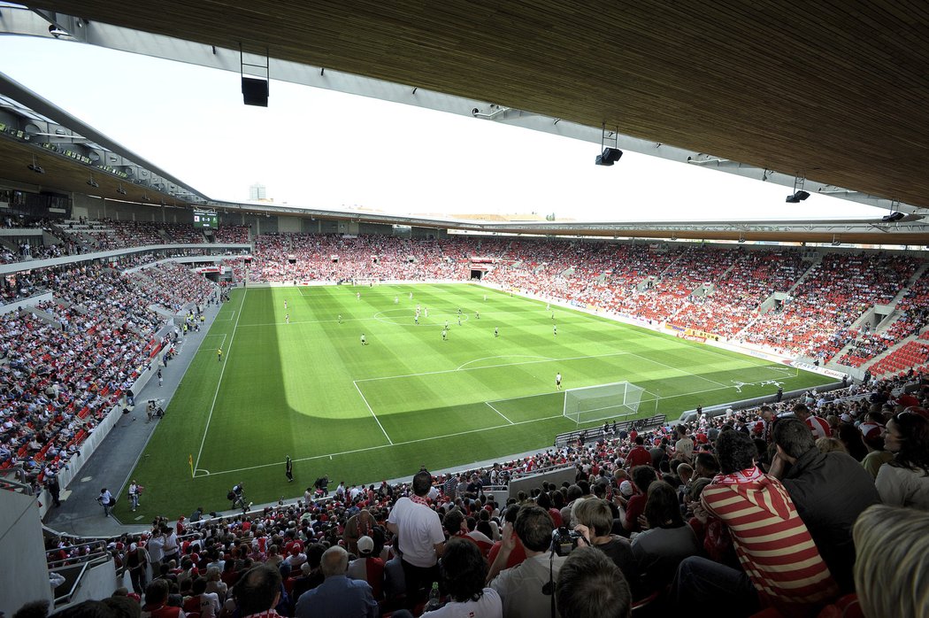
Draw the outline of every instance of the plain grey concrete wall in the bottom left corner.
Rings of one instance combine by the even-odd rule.
[[[54,599],[36,497],[0,490],[0,556],[6,562],[0,569],[0,612],[11,616],[28,601]]]

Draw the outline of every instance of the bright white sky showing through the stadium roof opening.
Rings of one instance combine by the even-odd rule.
[[[875,217],[885,211],[599,144],[79,43],[0,36],[0,71],[215,200],[392,214],[672,221]]]

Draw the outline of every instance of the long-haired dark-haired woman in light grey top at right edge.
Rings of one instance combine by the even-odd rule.
[[[894,460],[874,481],[883,504],[929,510],[929,421],[904,411],[887,422],[884,444]]]

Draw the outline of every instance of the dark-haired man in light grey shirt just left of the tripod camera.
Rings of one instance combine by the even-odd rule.
[[[505,618],[539,618],[551,612],[552,594],[564,556],[550,556],[555,525],[542,506],[523,506],[516,523],[507,523],[502,545],[493,560],[488,581],[504,601]],[[503,569],[516,538],[526,549],[526,559],[510,569]]]

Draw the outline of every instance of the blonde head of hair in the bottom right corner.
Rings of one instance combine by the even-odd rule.
[[[929,513],[874,505],[855,522],[855,587],[867,618],[929,615]]]

